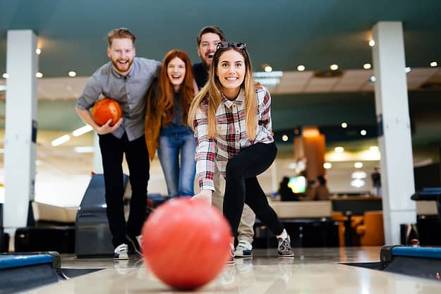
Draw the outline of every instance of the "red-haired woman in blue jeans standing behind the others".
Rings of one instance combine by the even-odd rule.
[[[182,50],[169,51],[147,94],[145,140],[150,160],[158,153],[171,198],[194,195],[196,140],[187,116],[195,92],[190,58]]]

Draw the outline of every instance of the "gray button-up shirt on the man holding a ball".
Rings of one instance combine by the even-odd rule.
[[[121,138],[125,131],[128,140],[138,139],[144,135],[146,93],[161,66],[159,61],[135,57],[130,73],[124,77],[116,73],[111,62],[106,63],[87,81],[76,106],[89,110],[100,94],[117,100],[123,109],[123,123],[112,135]]]

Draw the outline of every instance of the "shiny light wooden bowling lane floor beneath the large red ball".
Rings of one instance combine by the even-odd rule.
[[[441,282],[386,273],[338,262],[376,262],[378,247],[298,249],[296,258],[280,259],[274,250],[255,250],[253,259],[236,259],[195,293],[441,293]],[[66,259],[63,267],[92,267],[93,259]],[[165,286],[143,262],[99,259],[103,269],[28,293],[180,293]],[[187,292],[193,293],[193,292]]]

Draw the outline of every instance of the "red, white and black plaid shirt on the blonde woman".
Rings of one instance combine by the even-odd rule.
[[[246,133],[245,92],[243,90],[239,92],[234,101],[226,99],[222,94],[222,102],[216,112],[217,135],[215,138],[208,137],[208,98],[205,97],[202,100],[193,121],[197,140],[196,176],[200,190],[215,190],[213,183],[215,164],[217,164],[222,176],[225,176],[226,163],[241,150],[256,143],[274,142],[271,135],[270,93],[265,87],[260,86],[256,90],[256,95],[258,99],[258,128],[253,142],[250,142]]]

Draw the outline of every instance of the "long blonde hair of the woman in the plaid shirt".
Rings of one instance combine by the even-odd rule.
[[[234,47],[219,48],[217,49],[215,56],[213,56],[212,66],[210,67],[209,79],[207,84],[196,95],[193,102],[191,102],[190,109],[188,110],[188,125],[195,130],[194,120],[196,117],[196,111],[200,106],[204,97],[208,98],[208,136],[210,138],[217,135],[217,119],[216,111],[221,104],[222,84],[216,75],[217,67],[219,66],[219,59],[225,51],[235,50],[238,51],[245,61],[246,72],[245,79],[241,87],[245,91],[245,123],[246,133],[250,141],[255,140],[255,130],[258,126],[258,102],[255,93],[255,86],[253,80],[253,66],[251,66],[250,56],[246,49],[236,49]]]

